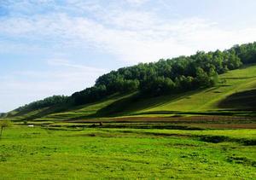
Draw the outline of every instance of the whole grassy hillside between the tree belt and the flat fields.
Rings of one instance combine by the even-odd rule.
[[[170,96],[137,97],[136,93],[115,94],[102,101],[73,107],[70,104],[44,107],[31,112],[10,112],[9,119],[50,123],[62,120],[104,119],[106,117],[165,117],[220,114],[252,115],[256,102],[256,65],[220,75],[212,88]]]

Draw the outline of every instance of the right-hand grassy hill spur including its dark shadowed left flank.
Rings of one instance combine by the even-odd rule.
[[[250,113],[255,109],[256,66],[242,67],[219,78],[219,84],[174,96],[123,98],[99,110],[105,115],[163,116],[170,114]],[[248,102],[249,99],[249,102]]]

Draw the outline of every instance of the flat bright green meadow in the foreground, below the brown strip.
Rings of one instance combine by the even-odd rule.
[[[255,141],[253,130],[13,126],[0,179],[256,179]]]

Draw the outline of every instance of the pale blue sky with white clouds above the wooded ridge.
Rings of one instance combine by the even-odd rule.
[[[0,112],[119,67],[256,40],[254,0],[0,0]]]

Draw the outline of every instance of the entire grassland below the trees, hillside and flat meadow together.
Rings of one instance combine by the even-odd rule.
[[[254,74],[243,67],[178,95],[13,111],[0,179],[256,179]]]

